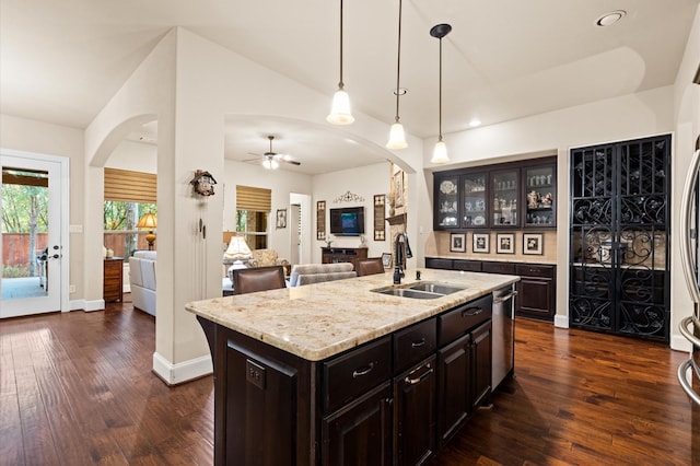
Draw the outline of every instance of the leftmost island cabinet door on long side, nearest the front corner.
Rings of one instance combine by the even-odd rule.
[[[322,420],[324,466],[376,465],[392,461],[389,381]],[[275,463],[269,463],[275,464]]]

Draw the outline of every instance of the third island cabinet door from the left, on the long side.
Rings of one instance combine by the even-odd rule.
[[[471,412],[471,337],[465,335],[438,352],[438,434],[444,444]]]

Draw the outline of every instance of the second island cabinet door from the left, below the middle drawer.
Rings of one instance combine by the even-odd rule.
[[[435,357],[394,378],[397,465],[424,463],[435,451]]]

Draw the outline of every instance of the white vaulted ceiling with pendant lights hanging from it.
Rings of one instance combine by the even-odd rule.
[[[700,0],[405,0],[400,116],[438,135],[439,40],[443,132],[673,84]],[[610,27],[595,20],[627,16]],[[345,2],[343,81],[353,108],[394,121],[398,0]],[[339,78],[339,1],[0,0],[0,112],[85,128],[172,26],[188,30],[330,96]],[[264,95],[264,94],[262,94]],[[318,125],[228,125],[226,156],[268,150],[302,173],[384,160]],[[235,129],[237,128],[237,129]],[[342,156],[350,151],[352,156]],[[360,155],[358,153],[360,152]],[[336,156],[329,158],[328,153]],[[330,164],[329,162],[332,162]],[[345,164],[345,165],[343,165]]]

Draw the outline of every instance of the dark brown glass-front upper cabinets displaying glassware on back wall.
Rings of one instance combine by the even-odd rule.
[[[557,159],[433,174],[433,230],[557,226]]]

